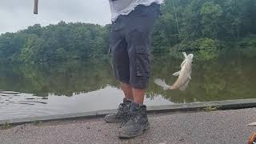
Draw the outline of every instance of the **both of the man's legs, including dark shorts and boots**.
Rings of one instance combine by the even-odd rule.
[[[143,101],[150,77],[150,32],[158,16],[158,8],[156,4],[138,6],[129,15],[120,16],[120,21],[114,23],[111,30],[114,74],[122,82],[126,98],[118,112],[106,115],[105,120],[124,122],[119,130],[120,138],[136,137],[150,126]]]

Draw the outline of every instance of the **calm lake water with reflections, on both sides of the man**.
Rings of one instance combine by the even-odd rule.
[[[172,84],[182,53],[152,56],[147,106],[256,98],[256,48],[194,55],[192,81],[184,92],[164,91],[153,82],[164,78]],[[122,98],[107,58],[0,66],[0,120],[115,109]]]

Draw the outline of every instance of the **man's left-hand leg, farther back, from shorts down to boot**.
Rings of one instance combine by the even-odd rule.
[[[122,33],[122,21],[118,19],[112,23],[110,31],[110,50],[112,53],[112,62],[114,66],[114,76],[121,82],[121,88],[125,94],[123,102],[118,106],[118,111],[114,114],[108,114],[105,117],[106,122],[122,122],[127,118],[130,103],[134,100],[130,80],[130,59],[127,54],[127,42]]]

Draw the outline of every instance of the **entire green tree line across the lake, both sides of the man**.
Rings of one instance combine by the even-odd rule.
[[[166,0],[153,53],[256,46],[255,0]],[[59,22],[0,35],[0,61],[48,62],[107,54],[110,25]]]

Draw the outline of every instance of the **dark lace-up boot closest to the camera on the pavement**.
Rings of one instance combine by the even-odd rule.
[[[126,122],[119,130],[119,138],[134,138],[150,128],[146,114],[146,106],[137,103],[130,104],[130,110]]]

